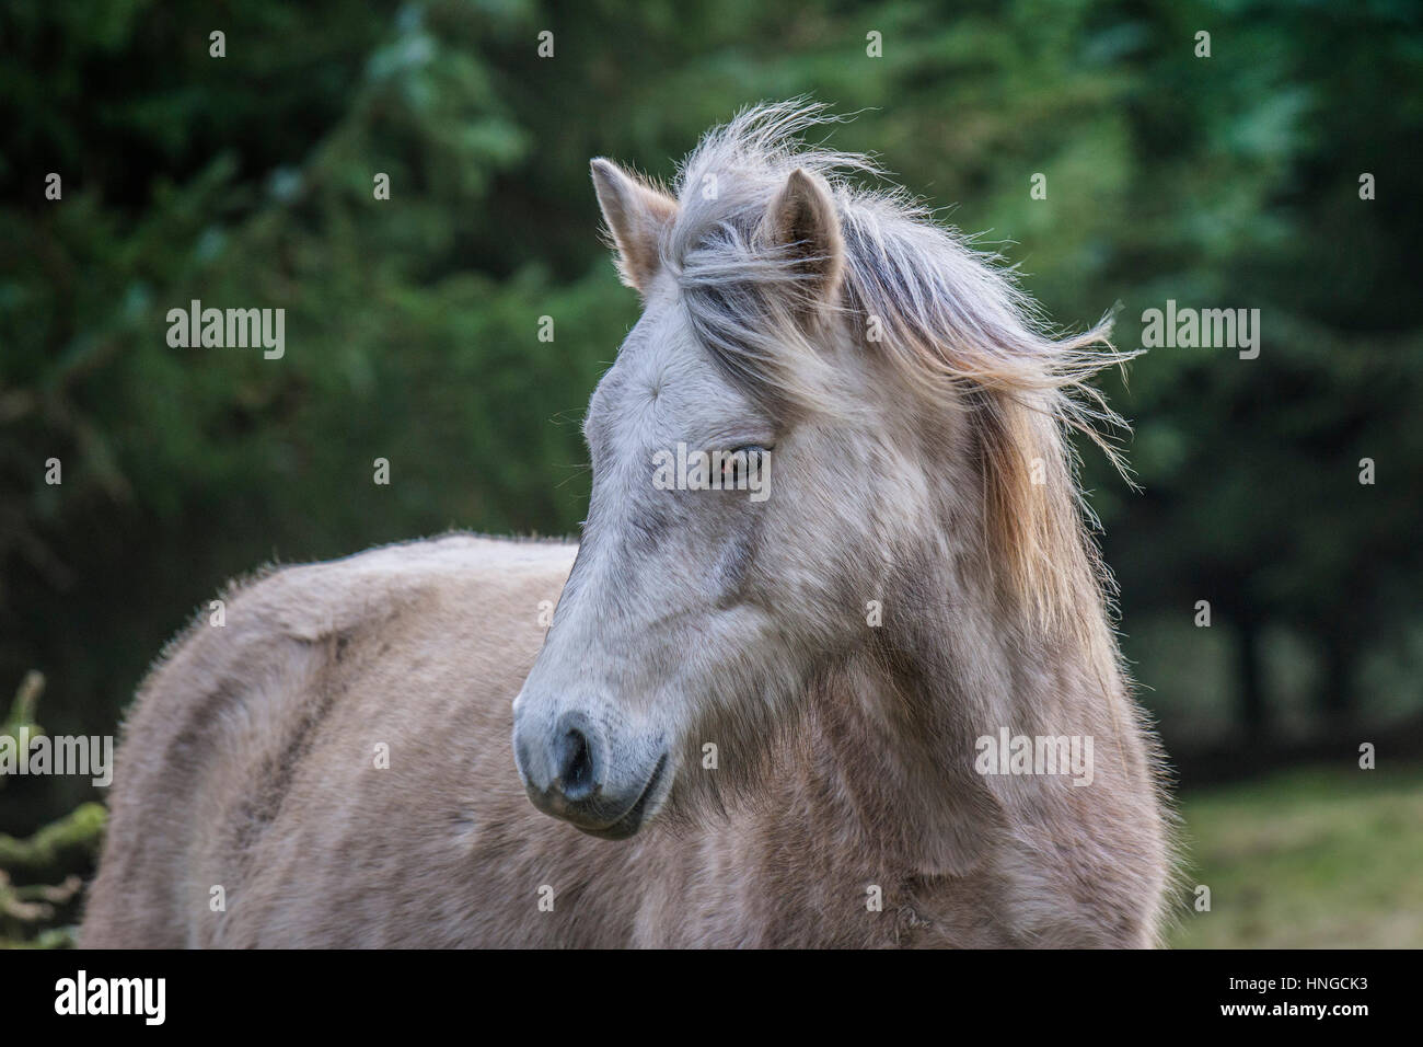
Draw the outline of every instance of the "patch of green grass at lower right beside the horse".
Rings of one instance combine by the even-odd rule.
[[[1187,795],[1184,949],[1423,947],[1423,768],[1291,771]]]

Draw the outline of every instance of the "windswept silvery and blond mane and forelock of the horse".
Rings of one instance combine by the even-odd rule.
[[[679,170],[662,266],[680,286],[693,330],[733,379],[773,410],[838,410],[822,353],[795,319],[804,259],[758,242],[790,174],[821,177],[845,246],[841,319],[931,407],[969,409],[995,570],[1044,621],[1059,618],[1080,601],[1084,581],[1110,587],[1083,534],[1066,436],[1087,434],[1124,472],[1106,434],[1123,423],[1087,379],[1134,353],[1111,348],[1110,318],[1054,338],[996,255],[976,251],[904,189],[851,182],[878,181],[882,171],[867,155],[803,140],[832,123],[822,104],[794,100],[747,108],[707,134]]]

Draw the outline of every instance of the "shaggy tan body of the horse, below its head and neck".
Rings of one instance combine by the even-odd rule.
[[[724,816],[609,843],[541,815],[509,752],[511,702],[544,641],[539,604],[558,600],[573,553],[448,536],[238,588],[223,627],[202,618],[175,641],[125,725],[81,944],[1148,940],[1151,906],[1133,905],[1148,885],[1121,883],[1093,912],[1101,885],[1126,879],[1103,859],[1083,902],[1063,903],[1063,845],[1083,840],[1056,840],[1037,865],[996,806],[969,826],[976,868],[921,868],[887,832],[916,798],[875,798],[896,741],[844,701],[850,679],[807,698],[761,799]],[[1046,917],[1019,913],[1035,883]],[[867,905],[872,885],[882,907]],[[1103,930],[1114,906],[1124,926]]]

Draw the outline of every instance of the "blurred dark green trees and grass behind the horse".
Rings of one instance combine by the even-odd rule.
[[[988,231],[1063,325],[1120,302],[1130,348],[1167,299],[1261,309],[1257,360],[1157,349],[1107,379],[1143,493],[1086,456],[1215,885],[1181,940],[1423,942],[1389,919],[1419,902],[1419,4],[9,0],[0,43],[0,695],[44,677],[11,724],[112,732],[263,561],[575,531],[576,422],[636,316],[588,158],[667,177],[741,105],[811,94],[865,110],[835,142]],[[286,356],[169,348],[195,298],[285,308]],[[1191,792],[1301,762],[1325,769]],[[98,795],[0,785],[0,829],[67,840],[7,866],[0,836],[0,936],[34,940],[73,913]],[[1353,900],[1303,922],[1331,883]]]

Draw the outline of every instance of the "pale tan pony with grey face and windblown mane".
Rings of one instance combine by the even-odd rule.
[[[743,110],[670,187],[592,161],[643,312],[581,541],[231,585],[125,722],[81,946],[1160,944],[1164,756],[1070,440],[1117,460],[1089,380],[1130,353],[834,120]]]

